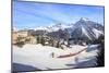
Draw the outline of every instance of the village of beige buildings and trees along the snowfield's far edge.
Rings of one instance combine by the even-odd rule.
[[[38,33],[37,33],[38,32]],[[74,39],[57,39],[56,37],[47,36],[44,34],[40,34],[41,31],[33,31],[33,29],[22,29],[16,31],[13,29],[12,32],[12,44],[19,47],[22,47],[25,44],[32,44],[37,45],[41,44],[43,46],[51,46],[60,49],[70,48],[71,45],[82,45],[86,46],[86,42],[83,42],[81,40],[74,40]]]

